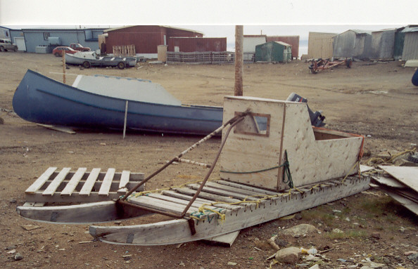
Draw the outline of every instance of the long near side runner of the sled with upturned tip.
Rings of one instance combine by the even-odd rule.
[[[264,201],[256,210],[240,209],[234,214],[227,214],[225,221],[219,225],[217,221],[199,222],[196,234],[191,235],[189,223],[185,219],[161,221],[159,223],[127,225],[127,226],[96,226],[89,228],[90,235],[102,242],[137,245],[179,244],[202,240],[217,235],[248,228],[253,225],[272,221],[305,209],[327,204],[343,197],[354,195],[369,188],[369,178],[348,179],[338,188],[323,188],[298,194],[289,199]]]

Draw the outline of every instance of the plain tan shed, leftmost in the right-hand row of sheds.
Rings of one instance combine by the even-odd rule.
[[[308,58],[331,58],[333,55],[333,37],[336,35],[333,33],[309,32]]]

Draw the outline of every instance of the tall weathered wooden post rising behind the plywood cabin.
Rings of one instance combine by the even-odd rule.
[[[235,27],[235,87],[234,96],[242,96],[243,77],[243,25]]]

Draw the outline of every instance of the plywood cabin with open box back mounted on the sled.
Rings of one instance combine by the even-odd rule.
[[[312,127],[305,103],[226,96],[223,121],[247,109],[251,114],[229,133],[222,150],[222,179],[271,190],[288,189],[289,179],[280,167],[286,160],[285,151],[294,187],[346,176],[350,170],[357,172],[355,164],[364,138]]]

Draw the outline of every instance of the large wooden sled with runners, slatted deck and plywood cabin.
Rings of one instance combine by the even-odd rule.
[[[213,164],[203,164],[209,171],[201,183],[146,195],[135,193],[172,162],[181,161],[187,152],[220,131],[220,150]],[[18,212],[25,218],[55,223],[96,223],[158,213],[175,219],[144,225],[93,225],[89,231],[97,240],[115,244],[157,245],[202,240],[366,190],[368,177],[347,177],[357,173],[363,139],[350,133],[312,128],[305,103],[229,96],[224,98],[224,124],[220,128],[144,178],[122,197],[112,198],[106,192],[107,202],[54,208],[19,206]],[[219,157],[222,180],[208,182]],[[59,180],[54,179],[44,189],[39,187],[43,183],[35,182],[32,189],[36,190],[31,186],[32,192],[27,191],[27,195],[35,198],[55,193],[58,189],[49,189],[61,186],[60,181],[66,176],[60,175],[69,170],[63,171],[56,175]],[[92,197],[104,197],[101,188],[107,182],[108,173]],[[45,178],[39,179],[42,181]],[[68,185],[71,181],[72,178]],[[63,187],[55,199],[67,202],[66,188],[69,187]]]

